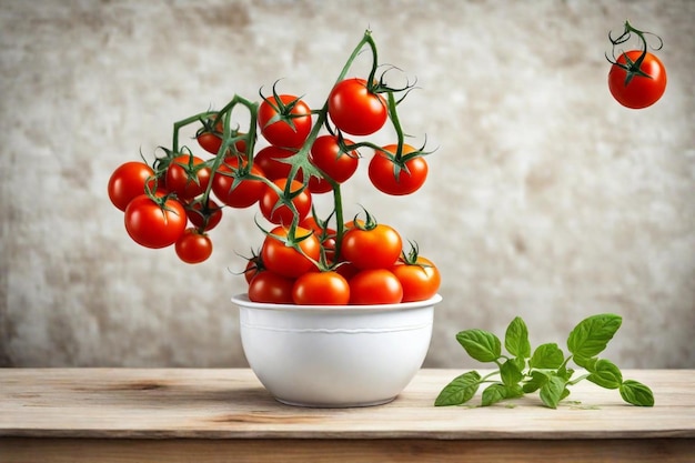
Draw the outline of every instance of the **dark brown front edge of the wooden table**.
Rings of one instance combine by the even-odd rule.
[[[685,439],[655,440],[100,440],[0,439],[3,463],[692,463]]]

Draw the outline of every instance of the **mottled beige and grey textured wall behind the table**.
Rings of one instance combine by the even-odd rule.
[[[643,111],[606,85],[625,19],[665,42],[668,88]],[[235,92],[282,78],[322,104],[369,27],[422,87],[406,131],[440,149],[415,197],[360,175],[345,203],[441,266],[426,364],[466,365],[463,329],[522,315],[564,343],[611,311],[621,366],[695,368],[693,19],[689,0],[0,0],[0,365],[244,365],[229,269],[260,243],[254,211],[188,266],[130,241],[109,175]]]

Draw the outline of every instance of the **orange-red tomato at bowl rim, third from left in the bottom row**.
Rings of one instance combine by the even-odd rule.
[[[399,279],[386,269],[367,269],[350,279],[351,304],[397,304],[403,299]]]

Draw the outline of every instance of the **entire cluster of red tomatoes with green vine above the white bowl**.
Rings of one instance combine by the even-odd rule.
[[[370,76],[346,78],[365,46],[374,57]],[[273,85],[260,103],[235,95],[219,111],[174,123],[164,155],[152,165],[127,162],[109,181],[130,238],[152,249],[173,245],[182,261],[199,263],[212,253],[209,232],[223,210],[258,207],[266,225],[256,220],[264,238],[244,271],[252,301],[383,304],[432,298],[441,276],[416,244],[405,251],[400,233],[366,210],[364,220],[343,215],[341,187],[365,149],[373,153],[369,178],[386,194],[411,194],[427,177],[429,152],[404,142],[396,112],[411,87],[391,88],[383,76],[375,78],[376,70],[367,31],[321,109]],[[244,131],[236,122],[240,108],[250,115]],[[389,120],[393,143],[370,142]],[[192,124],[202,153],[179,147],[180,130]],[[256,150],[259,132],[266,145]],[[333,194],[334,209],[322,219],[313,198],[323,193]]]

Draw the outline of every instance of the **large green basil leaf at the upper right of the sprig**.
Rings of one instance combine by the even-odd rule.
[[[623,319],[612,313],[584,319],[570,333],[567,349],[575,356],[575,361],[596,356],[606,349],[622,323]]]

